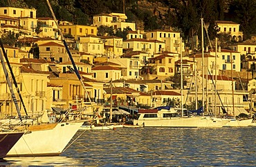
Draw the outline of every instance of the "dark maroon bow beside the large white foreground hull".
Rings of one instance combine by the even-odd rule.
[[[24,132],[0,132],[0,159],[6,157],[23,134]]]

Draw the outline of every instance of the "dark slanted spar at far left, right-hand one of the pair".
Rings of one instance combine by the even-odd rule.
[[[13,73],[13,71],[12,71],[12,67],[10,66],[10,61],[9,61],[8,56],[7,56],[7,54],[6,54],[6,50],[4,50],[4,48],[3,48],[3,43],[2,43],[2,41],[1,41],[1,39],[0,39],[0,45],[1,45],[1,48],[2,48],[2,50],[3,50],[3,56],[4,56],[4,58],[6,59],[7,66],[8,66],[8,68],[9,68],[9,70],[10,70],[10,75],[12,75],[12,81],[13,81],[13,83],[15,84],[15,88],[16,88],[16,90],[17,90],[17,92],[18,92],[19,99],[21,100],[21,104],[22,104],[22,106],[23,106],[23,108],[24,108],[24,112],[25,112],[26,115],[28,115],[28,112],[27,112],[27,110],[26,110],[26,106],[25,106],[24,101],[23,101],[23,98],[22,98],[22,96],[21,96],[21,92],[19,91],[18,83],[17,83],[17,81],[16,81],[16,79],[15,79],[15,75],[14,75],[14,73]]]

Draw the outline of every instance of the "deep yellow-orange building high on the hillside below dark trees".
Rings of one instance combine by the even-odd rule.
[[[72,35],[75,40],[86,35],[97,35],[96,26],[84,26],[84,25],[63,25],[60,26],[64,35]]]

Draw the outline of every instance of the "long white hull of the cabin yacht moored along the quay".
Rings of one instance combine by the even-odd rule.
[[[228,120],[211,117],[176,117],[169,119],[147,118],[134,120],[134,125],[144,124],[145,127],[171,128],[218,128],[228,123]]]

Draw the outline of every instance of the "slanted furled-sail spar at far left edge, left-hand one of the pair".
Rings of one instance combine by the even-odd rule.
[[[2,49],[2,50],[4,50],[4,49]],[[3,51],[3,52],[4,52],[4,51]],[[4,72],[4,75],[6,76],[6,81],[7,81],[7,83],[8,83],[8,87],[9,87],[10,93],[11,93],[11,95],[12,95],[12,100],[13,100],[13,102],[15,103],[15,108],[16,108],[16,110],[17,110],[17,112],[18,112],[18,115],[19,115],[19,120],[22,121],[22,118],[21,118],[21,111],[19,110],[18,101],[17,101],[17,99],[16,99],[16,97],[15,97],[15,92],[14,92],[14,90],[13,90],[13,88],[12,88],[12,83],[11,83],[11,81],[10,81],[10,77],[9,77],[9,75],[8,75],[8,71],[7,71],[7,69],[6,69],[6,64],[4,63],[3,55],[2,55],[1,50],[0,50],[0,60],[1,60],[2,66],[3,66],[3,72]]]

